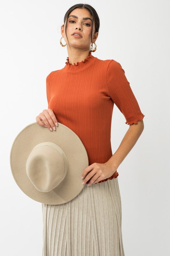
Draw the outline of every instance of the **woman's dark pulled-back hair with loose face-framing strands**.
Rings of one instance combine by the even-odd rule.
[[[89,11],[89,13],[92,15],[92,28],[93,28],[93,23],[95,25],[94,34],[96,32],[99,32],[100,20],[99,20],[99,16],[98,16],[96,10],[89,4],[75,4],[69,8],[69,10],[66,12],[66,14],[64,16],[64,24],[66,22],[66,26],[65,26],[66,37],[67,37],[66,29],[67,29],[67,22],[68,22],[69,14],[76,8],[87,9]],[[67,40],[68,40],[68,37],[67,37]],[[69,43],[69,40],[68,40],[68,43]],[[92,29],[91,29],[91,43],[92,43]],[[69,44],[69,46],[70,46],[70,44]]]

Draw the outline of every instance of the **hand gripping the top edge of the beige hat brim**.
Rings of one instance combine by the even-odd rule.
[[[58,121],[52,109],[44,109],[38,116],[36,122],[41,126],[48,127],[50,131],[55,130],[55,125],[58,126]]]

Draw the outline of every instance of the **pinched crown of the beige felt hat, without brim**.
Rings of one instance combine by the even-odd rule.
[[[68,171],[67,157],[58,145],[51,141],[37,144],[26,161],[26,173],[34,187],[41,192],[56,188]]]

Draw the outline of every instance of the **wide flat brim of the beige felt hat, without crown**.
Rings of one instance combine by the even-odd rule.
[[[67,156],[68,171],[63,181],[49,192],[37,190],[26,174],[26,161],[35,145],[51,141]],[[76,197],[83,189],[82,172],[89,165],[86,149],[69,127],[58,123],[49,131],[37,122],[27,125],[15,138],[10,153],[10,165],[18,187],[33,200],[44,204],[63,204]]]

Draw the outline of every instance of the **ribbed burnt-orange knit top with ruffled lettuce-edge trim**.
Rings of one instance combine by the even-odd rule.
[[[75,132],[87,151],[89,165],[106,163],[112,154],[111,121],[114,103],[125,124],[144,118],[120,63],[92,56],[76,64],[67,57],[62,69],[46,78],[48,108],[59,123]],[[117,124],[117,122],[116,122]],[[100,182],[111,180],[113,175]]]

